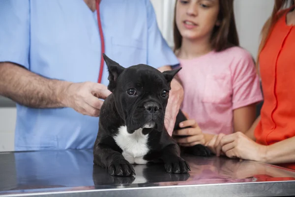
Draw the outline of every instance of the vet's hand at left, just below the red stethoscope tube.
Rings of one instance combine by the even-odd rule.
[[[65,91],[66,106],[89,116],[98,117],[103,100],[111,92],[103,84],[84,82],[71,83]]]

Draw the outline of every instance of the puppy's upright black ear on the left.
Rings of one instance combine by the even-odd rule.
[[[103,59],[106,62],[107,66],[108,66],[108,71],[109,71],[109,85],[108,85],[108,89],[113,92],[113,90],[116,88],[116,82],[118,79],[118,76],[123,72],[123,70],[125,69],[123,66],[120,66],[117,62],[115,62],[114,60],[111,60],[106,54],[102,54],[103,55]]]

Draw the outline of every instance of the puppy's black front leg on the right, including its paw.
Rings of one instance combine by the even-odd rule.
[[[163,160],[167,172],[186,173],[190,171],[189,164],[180,157],[179,152],[177,144],[169,144],[163,148],[161,160]]]

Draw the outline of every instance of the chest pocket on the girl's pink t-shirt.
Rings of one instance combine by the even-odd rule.
[[[231,82],[227,74],[207,75],[202,102],[210,103],[229,103],[231,98]]]

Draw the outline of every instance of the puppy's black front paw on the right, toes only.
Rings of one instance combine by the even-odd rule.
[[[190,171],[189,164],[180,157],[165,161],[165,169],[169,173],[186,173]]]

